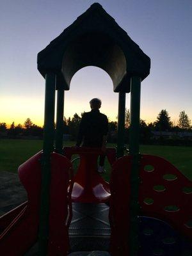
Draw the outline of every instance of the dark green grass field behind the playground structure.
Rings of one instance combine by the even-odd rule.
[[[0,171],[17,172],[20,164],[42,149],[42,144],[42,140],[0,140]],[[74,145],[74,142],[67,141],[65,145]],[[115,145],[109,143],[108,147]],[[192,147],[141,145],[140,152],[163,157],[192,180]],[[108,163],[106,169],[104,178],[109,180]]]

